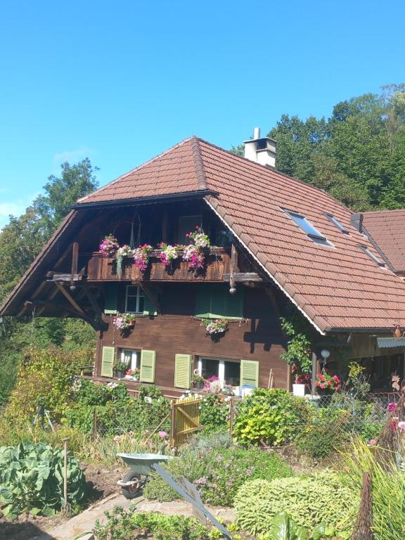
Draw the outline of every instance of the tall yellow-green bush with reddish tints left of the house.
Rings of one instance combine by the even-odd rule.
[[[82,366],[82,354],[67,356],[60,349],[34,349],[18,368],[5,417],[10,423],[32,422],[39,399],[53,419],[63,416],[72,398],[73,375]]]

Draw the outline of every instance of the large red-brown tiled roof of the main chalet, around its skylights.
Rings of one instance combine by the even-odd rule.
[[[78,200],[76,208],[198,191],[321,332],[405,327],[405,282],[359,247],[380,258],[370,240],[351,226],[347,207],[309,184],[202,139],[186,139]],[[333,247],[314,243],[283,209],[303,214]]]

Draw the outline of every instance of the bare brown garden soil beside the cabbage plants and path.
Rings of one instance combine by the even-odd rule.
[[[119,493],[117,480],[120,480],[128,471],[123,467],[114,465],[87,465],[81,463],[86,477],[86,486],[89,493],[89,504],[105,499],[111,494]],[[0,540],[34,540],[44,532],[62,525],[68,521],[68,515],[20,515],[18,520],[8,521],[0,518]]]

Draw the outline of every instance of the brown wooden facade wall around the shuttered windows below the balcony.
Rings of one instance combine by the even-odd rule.
[[[102,373],[103,347],[115,348],[120,357],[122,349],[155,352],[154,382],[162,387],[176,388],[174,380],[176,355],[191,355],[192,369],[198,368],[198,359],[224,361],[257,361],[258,383],[268,387],[270,376],[274,385],[289,388],[288,366],[280,359],[285,351],[285,337],[279,321],[279,307],[273,292],[264,288],[244,288],[243,319],[229,322],[229,330],[219,338],[205,333],[201,320],[195,318],[195,296],[205,284],[165,283],[160,288],[162,314],[136,316],[133,330],[120,333],[108,316],[108,330],[99,333],[96,376]],[[226,286],[226,285],[224,285]],[[124,287],[120,285],[119,307],[123,307]]]

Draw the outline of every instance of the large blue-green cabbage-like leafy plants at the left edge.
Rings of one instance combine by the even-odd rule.
[[[68,502],[84,498],[84,476],[68,456]],[[53,515],[63,505],[63,450],[46,444],[0,447],[1,511],[9,519],[23,512]]]

